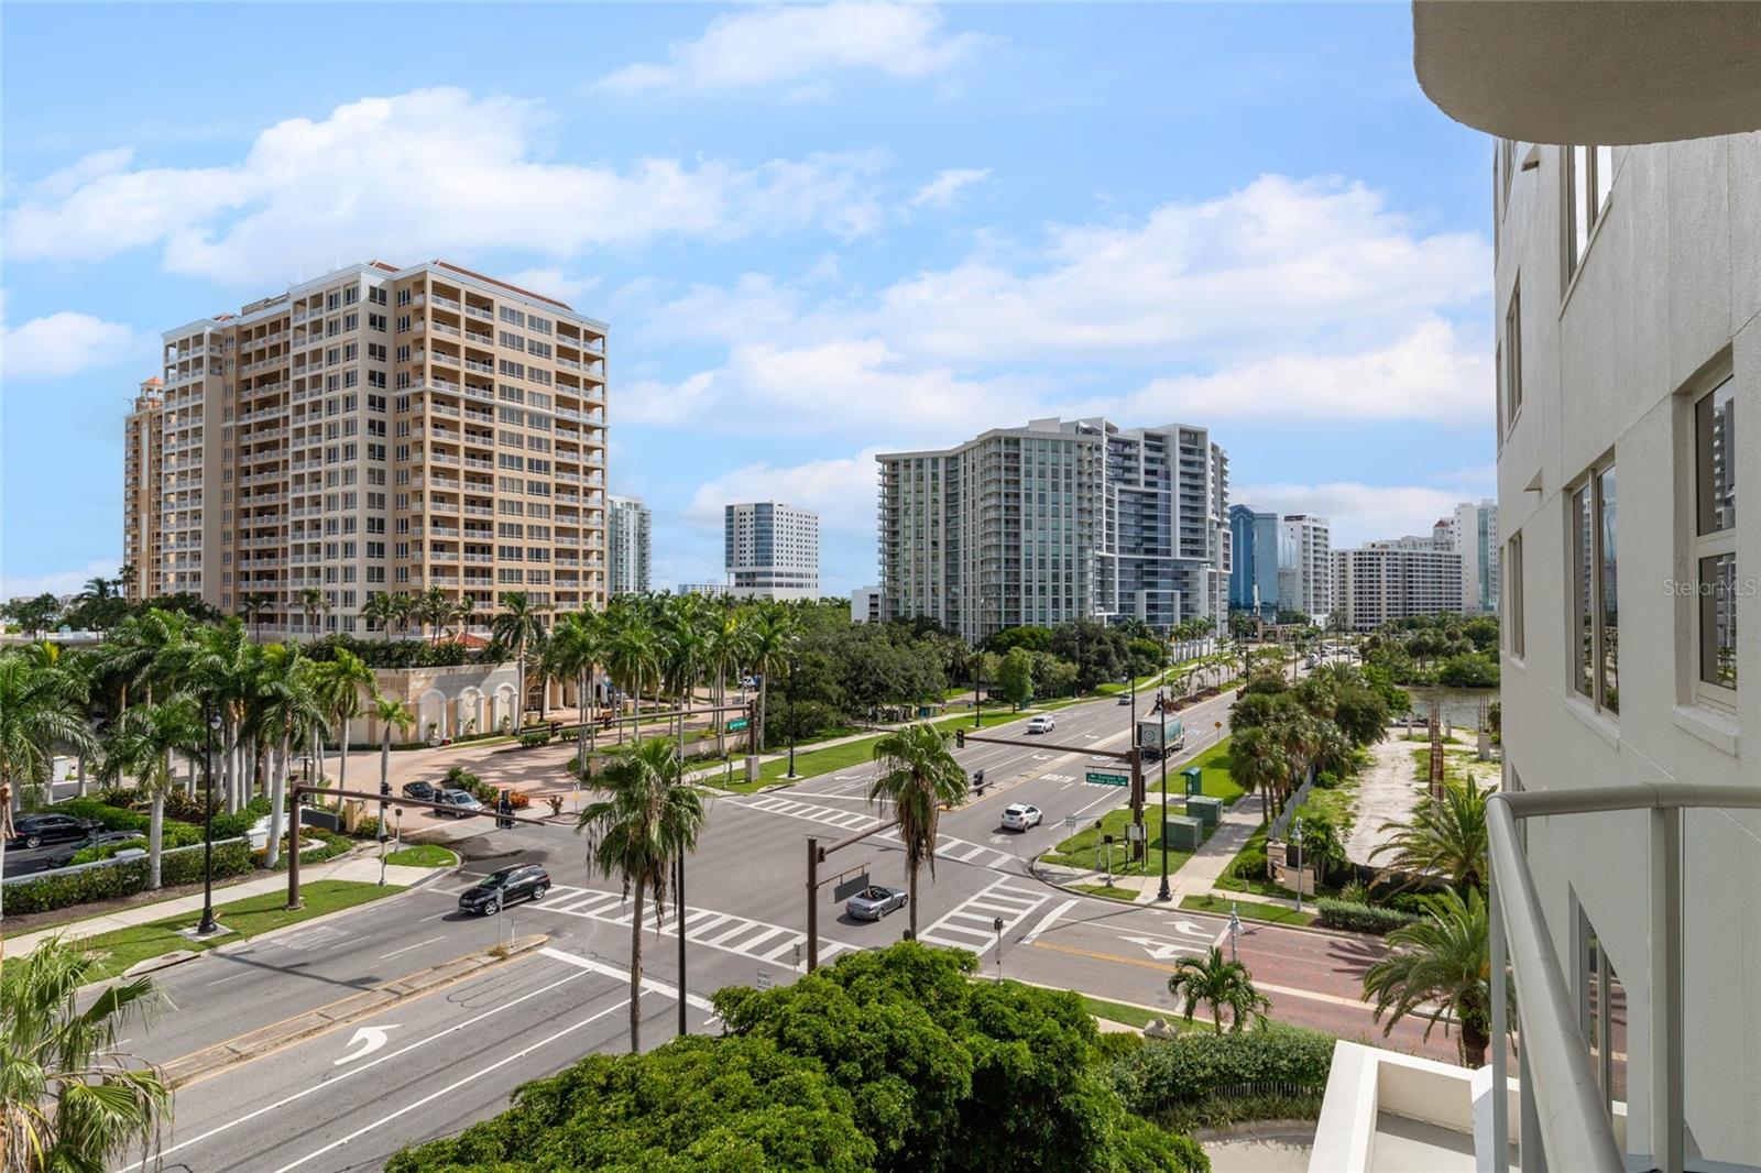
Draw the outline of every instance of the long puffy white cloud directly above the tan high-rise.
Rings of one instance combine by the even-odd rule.
[[[261,285],[264,273],[322,271],[338,257],[409,262],[435,241],[458,255],[564,259],[667,234],[826,225],[856,236],[879,220],[865,190],[884,164],[877,153],[615,169],[544,157],[542,120],[535,102],[435,88],[289,118],[211,167],[88,155],[11,210],[11,257],[99,261],[157,245],[171,271]]]

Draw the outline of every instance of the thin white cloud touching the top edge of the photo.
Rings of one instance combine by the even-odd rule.
[[[923,4],[759,7],[718,16],[696,41],[667,46],[666,63],[627,65],[595,88],[692,93],[808,83],[856,69],[925,77],[956,65],[984,41],[977,33],[944,33],[942,14]],[[822,86],[798,85],[794,93],[822,93]]]

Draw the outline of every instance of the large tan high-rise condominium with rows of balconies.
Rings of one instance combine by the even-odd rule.
[[[164,343],[162,405],[129,417],[139,592],[262,601],[264,632],[299,634],[363,634],[372,595],[431,586],[484,618],[509,592],[604,606],[604,322],[375,261]]]

